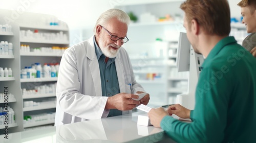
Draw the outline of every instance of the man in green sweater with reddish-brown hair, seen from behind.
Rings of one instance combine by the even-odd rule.
[[[196,89],[196,105],[176,104],[148,112],[151,123],[177,142],[256,142],[256,59],[229,37],[226,0],[187,0],[184,27],[195,52],[205,61]],[[169,116],[190,118],[191,123]]]

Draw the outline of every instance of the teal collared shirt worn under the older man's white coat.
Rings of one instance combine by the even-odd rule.
[[[103,97],[112,97],[115,94],[120,93],[119,83],[116,73],[116,65],[115,59],[116,58],[109,58],[108,62],[105,63],[105,55],[100,50],[99,46],[95,41],[94,36],[94,46],[96,56],[99,61],[99,71],[100,71],[100,80],[101,80],[101,91]],[[110,116],[117,116],[121,115],[122,111],[117,109],[110,109],[109,115]]]

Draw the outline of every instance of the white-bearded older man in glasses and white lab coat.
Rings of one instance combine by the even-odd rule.
[[[144,89],[135,81],[129,56],[121,46],[128,41],[129,22],[126,13],[110,9],[98,18],[94,36],[63,54],[55,125],[121,115],[148,103],[149,94],[140,101],[131,100]]]

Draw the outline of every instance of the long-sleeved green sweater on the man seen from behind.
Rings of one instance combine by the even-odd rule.
[[[205,59],[190,118],[165,116],[161,128],[177,142],[256,142],[256,59],[233,37]]]

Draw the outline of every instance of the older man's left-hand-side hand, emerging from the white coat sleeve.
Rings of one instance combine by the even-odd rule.
[[[115,96],[108,98],[105,109],[132,110],[140,104],[139,101],[132,100],[132,98],[138,99],[139,96],[127,93],[115,94]]]

